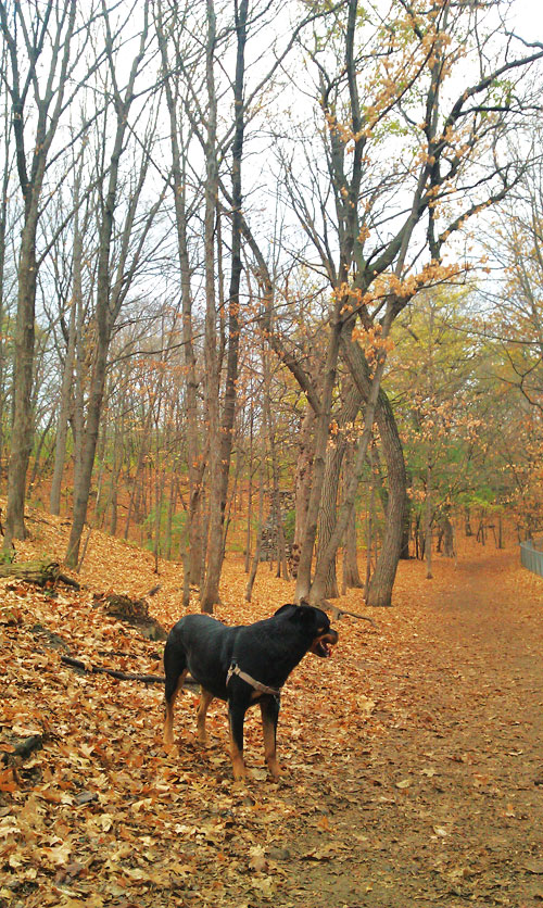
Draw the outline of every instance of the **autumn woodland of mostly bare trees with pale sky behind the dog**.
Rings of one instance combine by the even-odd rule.
[[[72,567],[104,529],[182,559],[206,610],[226,552],[248,596],[265,554],[298,598],[388,605],[453,517],[538,531],[519,9],[0,0],[4,558],[30,500]]]

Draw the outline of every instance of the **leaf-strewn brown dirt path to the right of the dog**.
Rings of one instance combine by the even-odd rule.
[[[330,860],[299,831],[294,854],[317,842],[299,904],[543,903],[543,602],[516,577],[516,554],[464,560],[386,635],[368,666],[381,731],[330,766]]]

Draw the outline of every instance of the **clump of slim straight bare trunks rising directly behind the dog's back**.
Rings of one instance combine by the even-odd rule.
[[[245,42],[249,16],[249,0],[233,0],[233,25],[220,28],[214,0],[205,3],[205,45],[203,86],[194,61],[198,54],[184,52],[181,36],[187,27],[187,17],[194,10],[182,10],[168,0],[159,4],[156,16],[163,71],[166,81],[166,101],[169,112],[171,141],[173,153],[174,188],[176,192],[176,225],[181,269],[181,295],[184,301],[184,343],[187,365],[187,417],[189,459],[189,571],[193,582],[201,584],[201,607],[212,611],[218,602],[218,583],[224,558],[225,508],[228,494],[231,449],[236,416],[239,337],[240,337],[240,286],[241,286],[241,166],[245,128],[244,71]],[[222,9],[222,12],[224,10]],[[197,11],[198,15],[198,11]],[[200,24],[200,23],[199,23]],[[219,34],[220,33],[220,34]],[[226,123],[225,135],[217,131],[217,90],[223,91],[220,78],[217,89],[217,59],[224,55],[225,41],[235,35],[235,74],[231,79],[233,119]],[[190,28],[187,27],[187,34]],[[171,47],[174,51],[171,51]],[[181,83],[180,83],[181,79]],[[180,85],[182,87],[180,87]],[[203,90],[202,90],[203,89]],[[226,89],[229,91],[229,86]],[[205,97],[205,103],[202,103]],[[203,272],[205,292],[204,319],[204,380],[205,451],[201,449],[197,431],[197,374],[192,337],[192,300],[190,266],[187,245],[187,198],[186,198],[186,148],[181,147],[181,121],[178,104],[182,99],[185,117],[190,130],[198,137],[203,154],[205,174],[202,178],[203,217]],[[187,141],[189,141],[189,136]],[[230,186],[227,189],[228,216],[231,224],[231,240],[226,255],[229,263],[229,287],[223,300],[223,215],[219,210],[219,191],[224,190],[220,164],[231,153]],[[198,190],[197,190],[198,191]],[[192,210],[192,209],[191,209]],[[226,313],[226,315],[225,315]],[[226,352],[226,368],[223,384],[223,356]],[[205,461],[205,463],[204,463]],[[205,530],[203,530],[201,502],[202,477],[206,470]],[[205,539],[201,540],[202,534]]]

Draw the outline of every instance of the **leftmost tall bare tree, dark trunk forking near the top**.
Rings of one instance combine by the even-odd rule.
[[[93,4],[86,10],[93,15]],[[8,472],[3,551],[26,534],[25,483],[33,444],[31,388],[36,287],[40,257],[38,224],[50,152],[62,114],[79,85],[89,33],[76,28],[76,0],[21,3],[0,0],[0,37],[8,65],[2,79],[10,97],[16,169],[23,199],[18,248],[17,314],[13,360],[13,425]],[[75,87],[74,87],[75,86]],[[52,194],[53,186],[48,186]]]

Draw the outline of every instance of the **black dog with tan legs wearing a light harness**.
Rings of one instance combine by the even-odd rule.
[[[243,780],[243,721],[248,708],[258,703],[266,762],[277,779],[280,689],[307,652],[329,656],[337,642],[338,634],[330,627],[328,616],[311,605],[283,605],[272,618],[235,628],[209,615],[186,615],[171,630],[164,651],[164,743],[174,743],[174,705],[190,671],[202,689],[198,740],[205,743],[205,715],[213,697],[227,701],[233,778]]]

